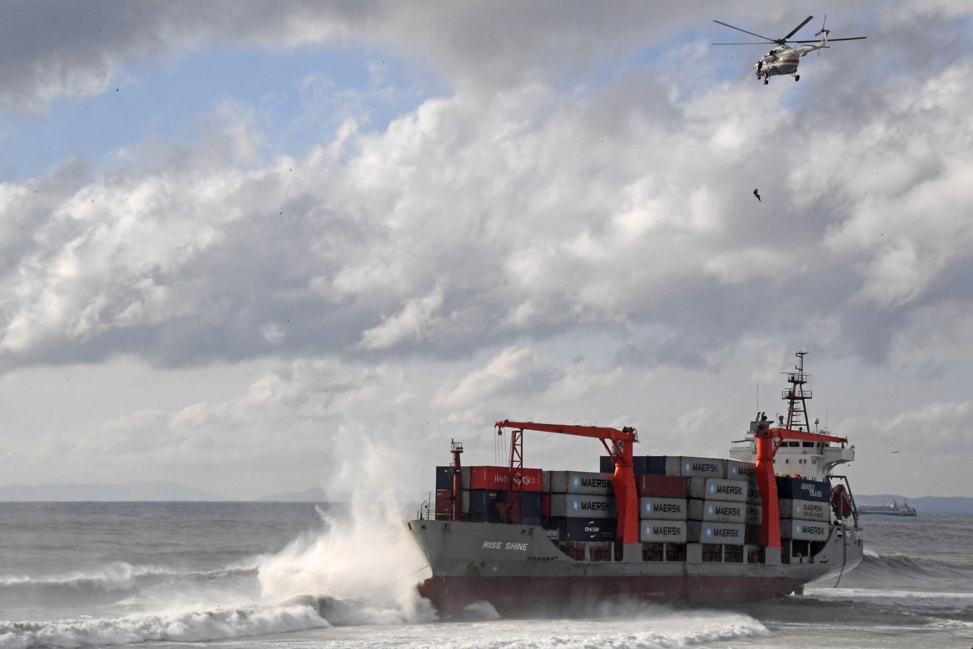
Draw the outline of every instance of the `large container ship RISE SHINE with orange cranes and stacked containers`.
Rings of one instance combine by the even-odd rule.
[[[847,477],[847,438],[811,431],[805,352],[786,421],[758,413],[730,459],[637,455],[634,428],[503,420],[505,466],[436,468],[409,531],[432,576],[417,585],[444,615],[486,601],[504,615],[619,598],[719,605],[837,585],[863,555]],[[523,432],[600,441],[598,471],[523,464]],[[594,446],[594,445],[593,445]],[[592,467],[594,468],[594,467]]]

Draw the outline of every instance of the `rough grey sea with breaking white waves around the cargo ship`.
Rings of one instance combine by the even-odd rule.
[[[441,621],[388,502],[0,503],[0,649],[973,646],[973,517],[864,517],[866,557],[805,595]],[[324,616],[316,597],[328,597]]]

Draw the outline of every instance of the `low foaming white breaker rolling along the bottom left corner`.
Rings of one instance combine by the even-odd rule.
[[[3,622],[0,623],[0,649],[26,649],[35,645],[74,649],[147,640],[199,642],[328,626],[308,605],[241,604],[115,619]]]

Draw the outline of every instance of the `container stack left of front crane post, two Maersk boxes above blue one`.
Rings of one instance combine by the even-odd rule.
[[[547,527],[557,529],[560,540],[615,540],[618,509],[610,473],[545,471],[542,480],[551,503]]]

